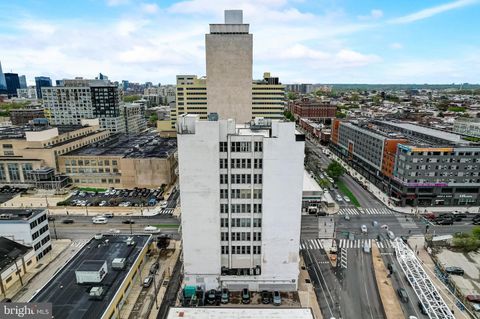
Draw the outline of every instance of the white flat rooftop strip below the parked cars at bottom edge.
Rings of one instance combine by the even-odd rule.
[[[170,308],[167,319],[314,319],[310,308]]]

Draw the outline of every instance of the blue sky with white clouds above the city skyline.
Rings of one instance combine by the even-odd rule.
[[[479,83],[480,0],[0,1],[4,72],[99,72],[174,84],[205,75],[205,34],[242,9],[253,74],[282,83]]]

